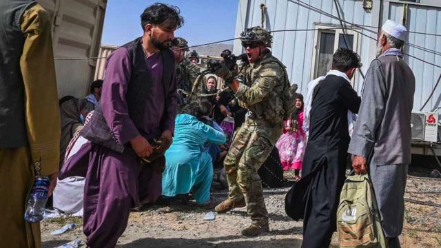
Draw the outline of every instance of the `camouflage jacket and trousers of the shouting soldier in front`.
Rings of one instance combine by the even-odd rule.
[[[252,224],[268,225],[268,212],[258,169],[271,153],[283,130],[282,96],[286,74],[280,61],[267,50],[262,58],[248,65],[236,96],[250,116],[236,132],[224,161],[229,184],[229,200],[245,197]]]

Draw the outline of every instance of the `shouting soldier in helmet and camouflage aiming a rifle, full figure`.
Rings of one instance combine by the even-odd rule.
[[[249,65],[235,77],[225,65],[215,74],[233,90],[239,104],[250,116],[238,129],[224,161],[229,184],[227,200],[216,206],[218,213],[247,206],[252,224],[244,236],[269,231],[268,212],[258,169],[271,153],[283,130],[283,92],[289,85],[285,66],[271,55],[271,34],[260,27],[247,28],[240,34]],[[242,80],[240,81],[241,78]]]

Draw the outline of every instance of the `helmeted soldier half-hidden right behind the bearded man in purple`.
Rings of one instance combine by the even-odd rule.
[[[188,43],[181,37],[176,37],[170,43],[176,59],[176,81],[178,85],[178,107],[187,104],[187,94],[192,92],[192,87],[198,73],[201,70],[197,65],[185,59],[185,52],[188,51]],[[205,82],[205,81],[203,81]],[[196,92],[202,92],[203,84],[198,85]]]

